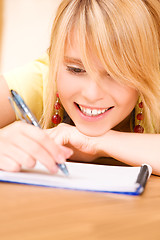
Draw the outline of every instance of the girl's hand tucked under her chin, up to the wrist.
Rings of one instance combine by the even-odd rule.
[[[73,150],[72,160],[93,161],[99,157],[96,147],[96,138],[87,137],[80,133],[76,127],[65,123],[48,129],[50,137],[61,146],[67,146]]]

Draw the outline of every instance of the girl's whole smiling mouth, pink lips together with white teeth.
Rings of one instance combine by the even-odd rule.
[[[87,118],[88,120],[95,120],[97,118],[100,118],[110,109],[114,108],[114,106],[111,106],[109,108],[90,108],[90,107],[84,107],[77,103],[75,103],[75,105],[80,111],[80,113],[82,114],[82,116]]]

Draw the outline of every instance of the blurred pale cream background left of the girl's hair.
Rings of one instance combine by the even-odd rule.
[[[1,72],[39,57],[49,46],[61,0],[4,0]]]

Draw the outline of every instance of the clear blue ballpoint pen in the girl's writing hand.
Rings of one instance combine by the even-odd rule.
[[[11,95],[12,98],[9,98],[11,106],[13,107],[13,110],[15,110],[13,104],[12,104],[12,100],[14,101],[14,103],[16,104],[16,106],[18,107],[19,111],[21,112],[22,116],[24,117],[25,121],[29,124],[34,125],[35,127],[39,127],[41,128],[40,124],[38,123],[36,117],[33,115],[33,113],[31,112],[31,110],[27,107],[27,105],[25,104],[24,100],[21,98],[21,96],[14,90],[11,90]],[[23,120],[20,117],[21,120]],[[65,174],[65,175],[69,175],[68,169],[66,167],[66,164],[62,163],[57,163],[57,166],[61,169],[61,171]]]

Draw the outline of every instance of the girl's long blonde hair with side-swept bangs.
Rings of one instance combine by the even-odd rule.
[[[113,79],[135,88],[144,104],[146,132],[160,132],[159,0],[63,0],[53,23],[43,127],[51,127],[59,63],[77,34],[85,68],[91,50]]]

